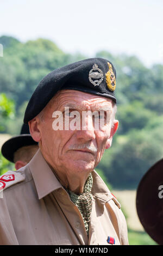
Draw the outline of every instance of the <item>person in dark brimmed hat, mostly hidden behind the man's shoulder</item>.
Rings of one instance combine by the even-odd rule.
[[[39,145],[30,135],[28,124],[23,124],[20,135],[8,139],[1,151],[5,159],[13,162],[18,170],[30,162],[38,149]]]

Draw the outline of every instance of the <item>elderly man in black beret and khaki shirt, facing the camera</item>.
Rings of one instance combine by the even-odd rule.
[[[121,206],[95,171],[118,127],[115,87],[114,66],[102,58],[64,66],[39,83],[24,123],[40,149],[5,174],[10,181],[0,178],[1,244],[128,244]]]

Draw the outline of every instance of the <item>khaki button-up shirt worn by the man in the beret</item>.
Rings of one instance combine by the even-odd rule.
[[[0,178],[0,245],[110,245],[108,236],[115,245],[128,245],[120,204],[95,171],[89,238],[82,215],[40,149],[27,166],[5,175]]]

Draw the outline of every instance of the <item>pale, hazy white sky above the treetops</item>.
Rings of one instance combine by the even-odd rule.
[[[134,54],[150,66],[163,64],[162,17],[162,0],[0,0],[0,36],[46,38],[87,57]]]

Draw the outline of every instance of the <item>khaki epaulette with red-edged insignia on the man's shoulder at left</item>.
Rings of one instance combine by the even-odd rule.
[[[0,176],[0,192],[18,182],[25,180],[25,176],[19,172],[9,170]]]

